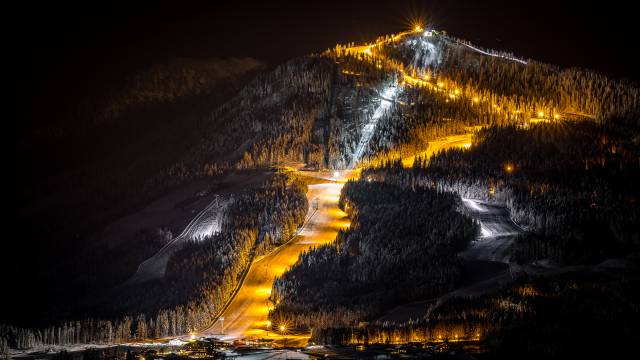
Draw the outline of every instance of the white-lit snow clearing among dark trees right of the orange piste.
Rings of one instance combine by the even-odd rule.
[[[471,218],[480,224],[480,236],[461,253],[466,260],[509,263],[509,247],[522,228],[511,220],[503,206],[474,199],[462,199]]]

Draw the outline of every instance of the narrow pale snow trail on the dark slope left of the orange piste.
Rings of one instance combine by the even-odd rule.
[[[140,263],[138,270],[127,280],[126,284],[164,277],[169,259],[182,247],[185,241],[200,241],[220,231],[224,211],[230,202],[230,199],[216,196],[204,210],[191,220],[180,235],[162,247],[155,255]]]

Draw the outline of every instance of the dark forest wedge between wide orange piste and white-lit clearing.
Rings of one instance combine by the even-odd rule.
[[[340,204],[351,227],[276,279],[274,323],[354,326],[453,288],[460,275],[456,253],[477,231],[456,211],[457,196],[361,180],[345,185]]]

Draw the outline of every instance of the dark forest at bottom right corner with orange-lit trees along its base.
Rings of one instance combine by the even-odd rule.
[[[321,344],[474,341],[492,358],[608,358],[628,353],[640,334],[635,269],[521,278],[478,298],[450,298],[402,323],[325,328]]]

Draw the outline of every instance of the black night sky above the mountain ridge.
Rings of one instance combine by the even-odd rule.
[[[397,32],[416,15],[486,47],[639,78],[632,55],[635,12],[622,1],[128,3],[56,2],[16,10],[16,60],[27,106],[73,104],[78,96],[99,93],[105,84],[172,57],[251,56],[275,65],[337,42]]]

